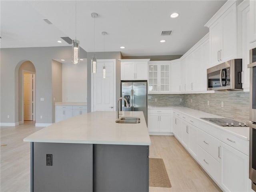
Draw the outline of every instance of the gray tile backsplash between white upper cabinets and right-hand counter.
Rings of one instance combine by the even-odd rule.
[[[180,102],[180,98],[182,102]],[[148,94],[148,105],[182,106],[242,122],[249,121],[249,92],[216,91],[210,94]]]

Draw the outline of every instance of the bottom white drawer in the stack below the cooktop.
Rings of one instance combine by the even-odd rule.
[[[210,156],[200,146],[197,146],[197,160],[208,174],[218,183],[219,182],[219,162]]]

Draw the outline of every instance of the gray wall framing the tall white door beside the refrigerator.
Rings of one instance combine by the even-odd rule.
[[[91,59],[94,53],[87,53],[87,111],[91,112],[91,78],[92,78],[92,65]],[[116,99],[120,97],[121,93],[121,52],[96,52],[96,59],[116,59]]]

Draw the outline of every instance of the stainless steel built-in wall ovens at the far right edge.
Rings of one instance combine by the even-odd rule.
[[[250,156],[249,178],[256,191],[256,48],[250,50]]]

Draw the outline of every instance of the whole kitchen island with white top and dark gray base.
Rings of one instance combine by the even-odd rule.
[[[116,112],[92,112],[52,124],[31,142],[31,191],[148,191],[150,137],[138,124],[116,123]]]

